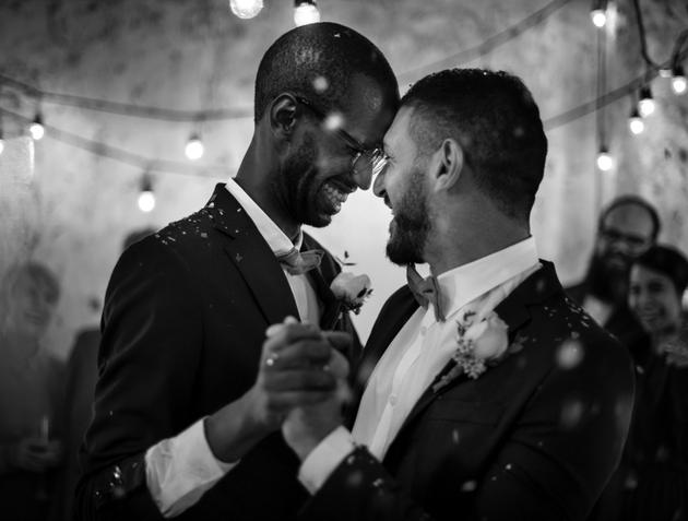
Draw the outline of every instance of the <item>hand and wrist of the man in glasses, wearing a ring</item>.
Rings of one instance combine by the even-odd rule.
[[[320,403],[336,391],[328,367],[332,345],[316,325],[287,318],[271,325],[266,336],[253,387],[205,419],[207,443],[221,461],[239,460],[278,429],[293,408]]]

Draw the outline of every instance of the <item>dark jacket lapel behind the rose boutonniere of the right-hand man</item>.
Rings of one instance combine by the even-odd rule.
[[[530,277],[527,277],[495,308],[495,312],[509,327],[509,342],[513,342],[518,331],[530,320],[527,306],[537,304],[548,298],[550,295],[553,295],[553,293],[561,291],[561,286],[559,284],[559,281],[557,280],[553,264],[545,261],[542,261],[542,264],[543,268],[541,268]],[[395,452],[399,451],[401,447],[401,443],[399,443],[398,441],[400,439],[403,439],[404,433],[408,429],[410,425],[412,425],[413,422],[418,417],[418,415],[423,413],[423,411],[425,411],[435,400],[437,400],[438,396],[468,380],[468,377],[465,374],[461,374],[451,382],[442,386],[441,389],[436,391],[434,389],[435,384],[454,366],[455,362],[453,359],[449,360],[444,365],[442,370],[432,380],[432,383],[430,383],[430,386],[428,386],[428,388],[420,395],[418,401],[408,413],[408,416],[406,416],[406,419],[402,424],[396,437],[390,445],[390,448],[384,457],[385,460],[390,458],[393,461],[393,459],[395,458]],[[487,370],[489,370],[489,368]]]

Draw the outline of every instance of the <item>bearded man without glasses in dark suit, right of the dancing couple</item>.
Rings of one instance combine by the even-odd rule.
[[[585,518],[618,464],[633,374],[537,259],[546,147],[530,92],[503,72],[442,71],[402,99],[375,191],[393,213],[389,258],[432,276],[410,269],[384,305],[352,431],[335,399],[287,416],[312,494],[303,519]]]

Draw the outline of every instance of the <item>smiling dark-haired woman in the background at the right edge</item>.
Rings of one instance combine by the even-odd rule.
[[[632,264],[628,303],[649,334],[648,358],[626,451],[595,519],[688,520],[688,368],[676,363],[687,285],[688,260],[674,248],[654,246]]]

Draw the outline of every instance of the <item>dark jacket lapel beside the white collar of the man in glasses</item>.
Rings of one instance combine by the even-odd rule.
[[[268,323],[282,322],[285,317],[298,317],[298,309],[280,263],[268,242],[241,205],[224,185],[203,211],[207,211],[226,241],[228,261],[241,274]]]

